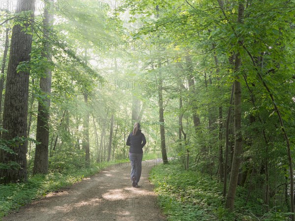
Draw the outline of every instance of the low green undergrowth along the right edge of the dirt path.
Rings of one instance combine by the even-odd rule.
[[[286,221],[286,214],[263,213],[258,200],[245,206],[247,189],[238,187],[235,211],[224,208],[222,183],[196,171],[185,171],[176,161],[159,164],[150,174],[158,201],[169,221]]]

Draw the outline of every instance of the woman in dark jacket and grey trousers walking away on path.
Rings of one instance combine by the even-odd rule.
[[[146,137],[141,132],[139,123],[134,124],[132,133],[129,134],[126,145],[129,148],[129,159],[131,162],[131,181],[133,187],[138,187],[138,182],[141,176],[143,147],[146,145]]]

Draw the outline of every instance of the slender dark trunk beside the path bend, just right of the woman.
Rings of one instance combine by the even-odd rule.
[[[160,62],[159,62],[160,63]],[[161,66],[161,65],[160,65]],[[164,108],[163,108],[163,78],[161,70],[159,73],[158,82],[158,96],[159,96],[159,122],[160,122],[160,135],[161,135],[161,152],[163,163],[168,163],[167,153],[166,153],[166,140],[165,140],[165,126],[164,126]]]

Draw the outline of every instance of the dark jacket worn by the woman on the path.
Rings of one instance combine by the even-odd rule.
[[[143,147],[146,145],[146,143],[147,143],[146,137],[141,132],[141,130],[138,130],[135,135],[132,135],[132,132],[131,132],[126,141],[126,145],[130,146],[129,153],[132,153],[132,154],[142,154]]]

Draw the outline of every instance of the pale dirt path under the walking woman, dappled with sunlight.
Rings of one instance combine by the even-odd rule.
[[[166,221],[148,181],[157,160],[143,161],[139,188],[129,178],[130,163],[100,173],[22,207],[3,221]]]

